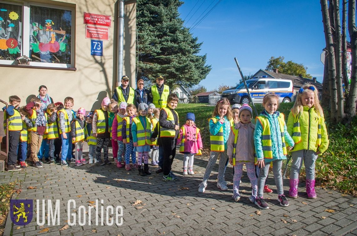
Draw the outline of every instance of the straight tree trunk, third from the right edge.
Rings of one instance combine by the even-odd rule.
[[[343,90],[342,90],[342,65],[341,65],[341,20],[340,20],[340,0],[334,0],[333,9],[335,12],[335,60],[336,60],[336,88],[337,88],[337,122],[341,122],[345,116],[343,111]]]

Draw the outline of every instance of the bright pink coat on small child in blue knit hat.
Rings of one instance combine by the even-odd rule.
[[[182,134],[183,134],[182,129],[185,129],[185,139],[186,139],[183,152],[197,154],[198,150],[203,147],[200,132],[198,132],[196,138],[197,127],[195,125],[189,126],[184,124],[180,129],[180,135],[177,139],[177,145],[180,145],[182,140]]]

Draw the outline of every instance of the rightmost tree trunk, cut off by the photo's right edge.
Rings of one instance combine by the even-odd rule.
[[[346,104],[346,118],[347,122],[352,120],[356,115],[356,100],[357,100],[357,30],[356,30],[356,0],[348,1],[348,32],[350,32],[351,39],[351,84],[348,93]]]

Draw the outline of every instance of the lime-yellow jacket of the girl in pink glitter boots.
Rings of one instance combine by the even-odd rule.
[[[314,108],[303,107],[303,112],[299,118],[300,129],[301,129],[301,142],[296,143],[294,148],[290,152],[295,152],[298,150],[306,149],[317,151],[317,149],[323,153],[328,147],[328,135],[325,124],[325,119],[321,119],[321,145],[317,145],[317,128],[318,128],[318,114]],[[293,135],[293,127],[295,123],[295,116],[290,112],[288,117],[287,129],[288,133]]]

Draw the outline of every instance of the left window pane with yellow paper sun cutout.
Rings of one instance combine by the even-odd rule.
[[[0,2],[0,60],[16,60],[22,40],[22,6]]]

